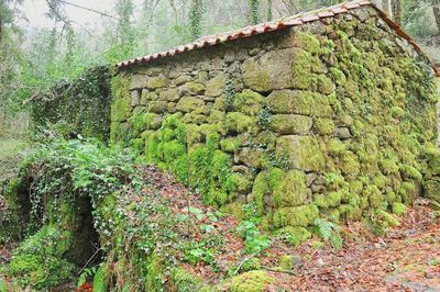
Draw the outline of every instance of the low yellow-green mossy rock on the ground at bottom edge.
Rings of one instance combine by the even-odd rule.
[[[257,270],[231,279],[231,292],[263,292],[274,279],[266,271]]]

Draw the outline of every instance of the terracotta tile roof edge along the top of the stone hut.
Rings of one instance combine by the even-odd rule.
[[[326,18],[332,18],[338,14],[343,14],[351,10],[359,9],[362,7],[367,7],[367,5],[374,8],[377,11],[377,14],[391,27],[393,27],[400,37],[405,38],[419,54],[427,57],[427,55],[416,44],[416,42],[409,35],[407,35],[397,23],[395,23],[393,20],[391,20],[386,15],[385,12],[383,12],[381,9],[378,9],[376,5],[374,5],[369,0],[355,0],[355,1],[350,1],[350,2],[343,2],[343,3],[337,4],[337,5],[320,9],[320,10],[305,12],[302,14],[297,14],[294,16],[279,19],[279,20],[272,21],[272,22],[266,22],[266,23],[262,23],[262,24],[257,24],[257,25],[253,25],[253,26],[248,26],[248,27],[244,27],[244,29],[241,29],[238,31],[233,31],[233,32],[227,32],[227,33],[220,33],[220,34],[216,34],[216,35],[204,36],[199,40],[196,40],[193,43],[189,43],[189,44],[186,44],[183,46],[178,46],[178,47],[174,47],[174,48],[170,48],[165,52],[155,53],[155,54],[151,54],[147,56],[121,61],[121,63],[117,64],[117,67],[123,68],[123,67],[128,67],[128,66],[131,66],[134,64],[147,63],[150,60],[168,57],[168,56],[174,56],[176,54],[185,53],[188,50],[194,50],[196,48],[215,46],[220,43],[224,43],[224,42],[229,42],[229,41],[233,41],[233,40],[238,40],[238,38],[249,37],[252,35],[263,34],[266,32],[278,31],[278,30],[286,29],[286,27],[294,27],[294,26],[302,25],[308,22],[314,22],[314,21],[318,21],[321,19],[326,19]],[[428,57],[427,57],[427,59],[430,61],[430,65],[432,66],[432,69],[435,70],[436,75],[440,76],[440,69]]]

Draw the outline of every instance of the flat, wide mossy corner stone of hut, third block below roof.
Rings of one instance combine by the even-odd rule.
[[[275,114],[268,127],[278,134],[307,134],[311,128],[311,117],[297,114]]]

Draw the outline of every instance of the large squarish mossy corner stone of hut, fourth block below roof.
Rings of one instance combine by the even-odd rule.
[[[304,171],[320,171],[324,167],[324,156],[312,136],[282,136],[276,143],[276,157],[289,168]]]

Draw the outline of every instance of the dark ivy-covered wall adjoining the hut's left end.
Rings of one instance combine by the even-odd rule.
[[[108,141],[110,133],[110,69],[97,66],[73,81],[61,80],[31,100],[31,113],[41,128],[66,137],[78,134]]]

